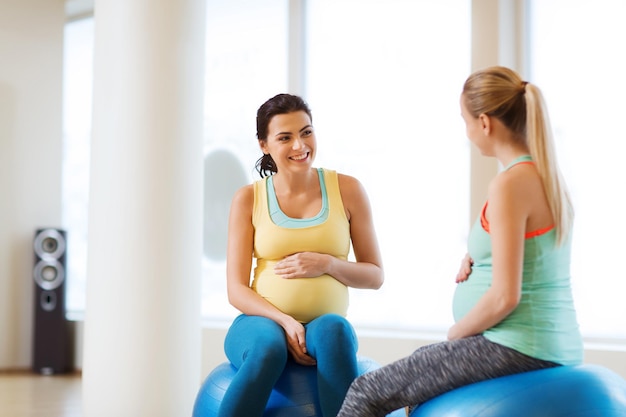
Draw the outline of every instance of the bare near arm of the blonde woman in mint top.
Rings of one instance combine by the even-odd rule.
[[[478,303],[448,331],[460,339],[495,326],[517,307],[522,291],[524,235],[529,207],[523,187],[509,175],[496,177],[489,190],[487,217],[492,242],[492,283]],[[471,279],[471,277],[470,277]]]

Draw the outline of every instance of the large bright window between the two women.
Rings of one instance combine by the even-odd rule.
[[[459,95],[470,70],[470,2],[307,4],[317,164],[365,186],[385,267],[380,290],[351,290],[349,317],[445,330],[469,225]]]

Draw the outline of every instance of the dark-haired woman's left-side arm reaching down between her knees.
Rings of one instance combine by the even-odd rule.
[[[302,324],[274,307],[250,288],[254,245],[253,204],[254,190],[251,185],[237,191],[231,204],[226,255],[228,301],[244,314],[274,320],[285,330],[289,352],[294,359],[302,365],[314,365],[315,360],[306,354],[306,339]]]

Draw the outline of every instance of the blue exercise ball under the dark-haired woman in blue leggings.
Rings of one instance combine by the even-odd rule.
[[[378,369],[374,360],[358,358],[359,375]],[[230,363],[218,365],[206,377],[196,396],[193,417],[215,417],[226,389],[237,370]],[[317,393],[317,370],[289,361],[267,401],[263,417],[318,417],[322,415]],[[389,417],[405,417],[404,409]]]

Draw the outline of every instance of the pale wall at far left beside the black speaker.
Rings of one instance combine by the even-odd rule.
[[[30,366],[32,241],[61,222],[63,0],[0,2],[0,369]]]

